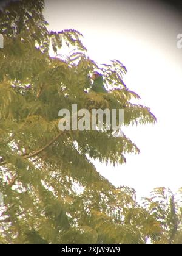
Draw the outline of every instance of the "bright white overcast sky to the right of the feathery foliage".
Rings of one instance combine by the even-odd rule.
[[[182,187],[182,49],[177,49],[182,18],[154,3],[45,0],[49,29],[79,30],[90,57],[98,63],[120,60],[128,71],[124,77],[127,87],[140,94],[139,103],[157,116],[155,126],[125,130],[140,148],[140,155],[128,155],[125,165],[115,167],[96,162],[110,182],[135,188],[138,197],[147,196],[154,187],[174,191]]]

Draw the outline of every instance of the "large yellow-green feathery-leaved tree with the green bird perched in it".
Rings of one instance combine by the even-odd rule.
[[[12,1],[0,13],[0,243],[146,243],[158,222],[91,162],[122,164],[137,146],[114,130],[61,132],[58,112],[124,107],[126,126],[155,116],[132,103],[140,97],[124,84],[120,61],[97,65],[78,31],[47,29],[43,9],[42,0]],[[50,57],[50,46],[56,54],[63,42],[75,51]],[[90,91],[95,70],[107,94]]]

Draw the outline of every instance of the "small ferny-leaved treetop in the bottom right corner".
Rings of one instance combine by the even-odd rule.
[[[152,236],[153,243],[173,244],[181,241],[181,190],[177,194],[169,188],[155,188],[144,199],[144,208],[160,222],[162,232]]]

